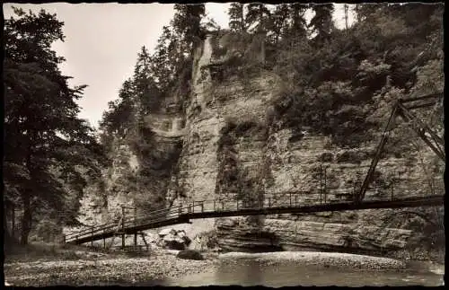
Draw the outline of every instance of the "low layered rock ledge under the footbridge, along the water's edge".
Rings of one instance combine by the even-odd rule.
[[[253,234],[251,225],[242,218],[217,223],[222,233],[220,246],[224,250],[339,250],[388,251],[401,250],[411,231],[381,228],[361,223],[331,223],[267,218]],[[225,234],[227,233],[227,234]]]

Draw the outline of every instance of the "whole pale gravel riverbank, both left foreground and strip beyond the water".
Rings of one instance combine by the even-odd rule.
[[[13,286],[139,286],[165,278],[214,272],[219,264],[244,264],[251,260],[265,266],[295,263],[319,268],[350,268],[351,271],[401,271],[408,267],[399,259],[317,251],[228,252],[220,255],[210,252],[203,253],[204,260],[176,258],[178,250],[154,250],[138,258],[87,251],[83,255],[76,253],[79,259],[5,261],[5,280]]]

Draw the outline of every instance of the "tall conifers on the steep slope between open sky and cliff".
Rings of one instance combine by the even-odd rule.
[[[139,118],[158,111],[165,97],[188,96],[193,51],[211,22],[201,22],[204,4],[175,4],[174,9],[171,25],[163,27],[154,53],[141,48],[134,75],[123,83],[119,99],[110,101],[110,110],[101,120],[105,135],[126,136],[130,122],[139,126]]]

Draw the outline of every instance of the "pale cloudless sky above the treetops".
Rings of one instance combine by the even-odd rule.
[[[64,22],[66,40],[55,42],[57,55],[66,62],[59,67],[64,75],[73,76],[69,84],[87,84],[84,98],[78,101],[79,117],[98,127],[108,102],[118,98],[121,84],[131,77],[137,53],[145,46],[152,53],[164,25],[172,20],[173,4],[4,4],[4,18],[13,15],[11,6],[38,13],[45,9],[57,13]],[[206,13],[221,28],[228,27],[229,4],[207,3]],[[336,4],[334,21],[344,25],[343,4]],[[306,15],[309,18],[311,14]],[[352,15],[350,15],[352,20]]]

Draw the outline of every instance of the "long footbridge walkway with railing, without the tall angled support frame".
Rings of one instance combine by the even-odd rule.
[[[240,216],[240,215],[274,215],[295,213],[316,213],[327,211],[361,210],[369,208],[399,208],[399,207],[432,207],[442,206],[445,196],[424,196],[414,198],[378,199],[354,203],[352,201],[338,203],[322,203],[304,205],[297,202],[297,195],[291,194],[289,198],[277,198],[269,202],[260,202],[258,206],[242,200],[205,200],[189,203],[187,206],[172,207],[168,209],[149,212],[122,219],[118,223],[101,224],[80,232],[66,235],[66,242],[82,244],[117,235],[136,234],[145,230],[154,229],[172,224],[187,224],[192,219]],[[270,200],[270,199],[269,199]],[[212,207],[210,207],[212,206]],[[210,209],[207,209],[209,207]]]

